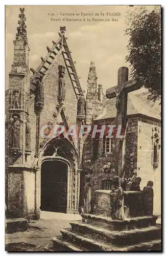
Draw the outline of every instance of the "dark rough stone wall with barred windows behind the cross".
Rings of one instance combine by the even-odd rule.
[[[98,120],[95,124],[110,125],[114,124],[114,119]],[[114,143],[114,139],[112,139]],[[97,153],[97,154],[95,154]],[[103,166],[111,163],[110,174],[104,173]],[[103,180],[112,179],[113,173],[113,155],[103,154],[103,139],[95,140],[89,136],[84,142],[83,148],[83,169],[91,174],[92,194],[97,189],[103,189]],[[126,176],[132,177],[134,169],[137,167],[137,118],[128,118],[128,130],[126,135],[126,154],[125,154]]]

